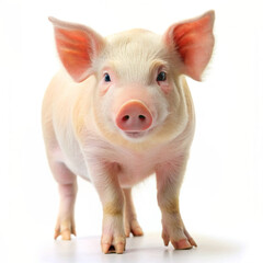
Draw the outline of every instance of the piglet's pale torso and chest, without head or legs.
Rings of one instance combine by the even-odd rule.
[[[152,141],[122,146],[107,140],[96,127],[92,112],[93,77],[76,83],[64,70],[59,71],[52,80],[43,104],[44,137],[49,158],[65,163],[75,174],[91,181],[87,156],[83,153],[89,152],[88,162],[91,164],[98,159],[118,164],[117,176],[122,187],[138,184],[153,174],[159,163],[173,161],[188,151],[194,135],[194,112],[183,77],[181,82],[188,113],[182,133],[161,144]],[[83,130],[80,135],[78,128],[83,122],[85,125],[81,127]],[[84,146],[80,142],[82,139]]]

